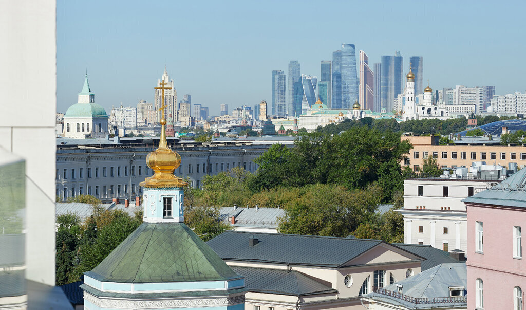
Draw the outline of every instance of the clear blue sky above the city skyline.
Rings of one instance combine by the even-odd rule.
[[[433,89],[494,85],[524,92],[526,4],[519,1],[57,1],[57,111],[84,74],[107,109],[153,102],[168,68],[178,99],[217,115],[270,102],[271,71],[320,74],[341,43],[369,56],[424,57]]]

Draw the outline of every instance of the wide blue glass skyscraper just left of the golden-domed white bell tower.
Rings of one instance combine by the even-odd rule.
[[[380,108],[391,112],[395,108],[395,98],[403,92],[403,57],[400,52],[395,56],[381,56],[380,70]]]

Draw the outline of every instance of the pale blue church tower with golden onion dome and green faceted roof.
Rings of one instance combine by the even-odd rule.
[[[146,157],[154,175],[140,183],[144,222],[84,273],[84,308],[242,310],[244,278],[184,224],[188,184],[174,175],[181,156],[168,147],[164,115],[160,124]]]

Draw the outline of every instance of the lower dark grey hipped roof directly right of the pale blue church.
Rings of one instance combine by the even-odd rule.
[[[238,266],[231,268],[237,274],[245,276],[245,288],[249,292],[292,296],[338,293],[329,283],[297,271]]]

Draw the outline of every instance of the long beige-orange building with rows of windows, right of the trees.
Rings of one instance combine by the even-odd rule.
[[[472,162],[486,162],[508,167],[509,163],[517,163],[519,167],[526,165],[526,146],[500,145],[498,141],[488,137],[462,137],[455,144],[439,145],[440,136],[401,136],[401,141],[409,140],[413,148],[401,162],[402,166],[410,166],[413,170],[422,167],[422,159],[428,156],[437,158],[440,167],[469,167]]]

